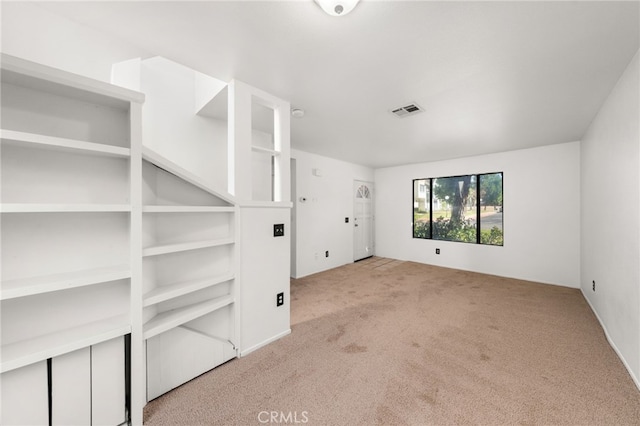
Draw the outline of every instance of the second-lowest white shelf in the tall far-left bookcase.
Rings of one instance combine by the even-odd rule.
[[[84,287],[126,278],[131,278],[131,269],[128,265],[6,280],[1,283],[0,300]]]

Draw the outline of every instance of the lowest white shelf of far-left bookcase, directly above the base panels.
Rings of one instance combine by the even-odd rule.
[[[130,332],[129,317],[119,315],[2,346],[0,373],[86,348]]]

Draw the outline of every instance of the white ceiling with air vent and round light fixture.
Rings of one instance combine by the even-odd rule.
[[[580,140],[640,39],[638,1],[38,4],[287,99],[294,148],[371,167]]]

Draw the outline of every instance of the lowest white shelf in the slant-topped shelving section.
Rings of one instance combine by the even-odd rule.
[[[186,322],[224,308],[232,303],[233,297],[231,295],[227,295],[185,306],[183,308],[163,312],[153,317],[144,325],[143,336],[145,339],[149,339]]]

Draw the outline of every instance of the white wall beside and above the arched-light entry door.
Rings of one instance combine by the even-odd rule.
[[[295,278],[353,262],[353,181],[373,182],[373,169],[298,150],[291,157],[297,166],[297,193],[291,195],[297,222]],[[313,169],[322,176],[314,176]]]

